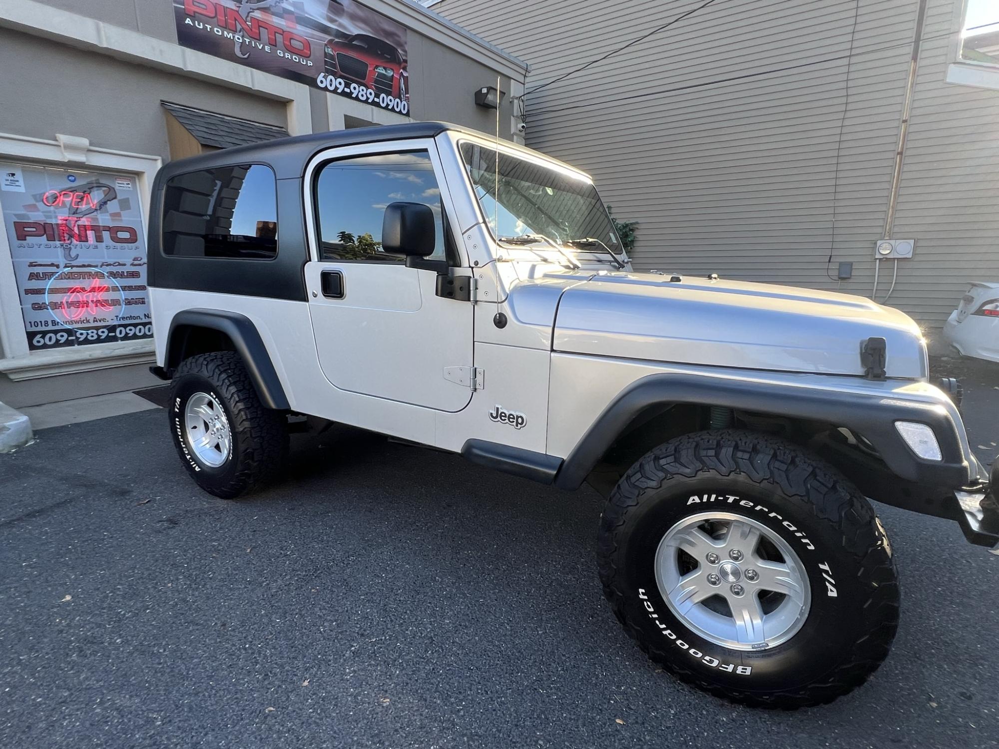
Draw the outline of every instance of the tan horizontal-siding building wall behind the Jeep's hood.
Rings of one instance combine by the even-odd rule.
[[[637,268],[838,289],[931,338],[999,280],[994,0],[425,4],[531,66],[527,145],[639,222]]]

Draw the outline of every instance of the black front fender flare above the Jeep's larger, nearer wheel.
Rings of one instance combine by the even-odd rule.
[[[554,485],[578,488],[635,417],[647,409],[677,403],[719,405],[845,426],[870,441],[888,468],[901,478],[952,488],[969,482],[969,462],[957,426],[940,405],[903,400],[889,393],[858,393],[806,383],[662,373],[636,379],[603,409],[565,458]],[[898,434],[896,420],[929,425],[940,444],[942,459],[925,460],[916,455]]]

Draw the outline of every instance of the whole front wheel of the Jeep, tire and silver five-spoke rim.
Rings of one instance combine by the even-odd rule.
[[[734,702],[796,708],[862,684],[898,624],[891,548],[867,500],[790,442],[678,437],[608,499],[600,579],[653,661]]]

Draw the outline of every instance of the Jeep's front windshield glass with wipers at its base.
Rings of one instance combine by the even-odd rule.
[[[586,180],[502,152],[498,162],[495,149],[475,143],[463,143],[461,152],[498,240],[536,238],[542,244],[578,243],[573,245],[577,250],[591,246],[594,252],[623,254],[610,217]]]

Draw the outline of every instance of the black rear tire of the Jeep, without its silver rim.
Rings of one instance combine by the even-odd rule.
[[[199,354],[174,373],[168,407],[170,433],[181,461],[205,491],[224,499],[251,493],[280,473],[288,454],[287,417],[261,402],[240,356],[235,352]],[[223,406],[231,448],[226,461],[212,467],[187,444],[184,409],[188,398],[206,392]]]

